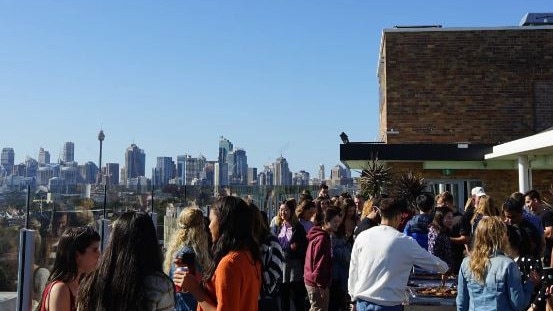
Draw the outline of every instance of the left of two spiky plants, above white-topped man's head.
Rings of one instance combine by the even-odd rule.
[[[378,158],[370,160],[359,177],[359,188],[365,198],[380,197],[383,193],[386,193],[391,184],[390,167],[384,166],[384,163],[378,161]]]

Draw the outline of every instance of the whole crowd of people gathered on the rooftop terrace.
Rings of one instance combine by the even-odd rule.
[[[165,252],[150,216],[125,212],[103,254],[90,227],[61,234],[38,310],[395,311],[413,273],[456,277],[458,310],[546,310],[553,211],[535,190],[495,201],[475,187],[462,210],[449,192],[410,206],[322,185],[267,219],[222,196],[208,219],[184,209]]]

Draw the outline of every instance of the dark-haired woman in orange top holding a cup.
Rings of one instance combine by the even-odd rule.
[[[202,284],[179,270],[173,281],[196,298],[200,310],[258,310],[261,263],[252,232],[256,221],[252,209],[238,197],[221,197],[211,206],[209,220],[213,262]]]

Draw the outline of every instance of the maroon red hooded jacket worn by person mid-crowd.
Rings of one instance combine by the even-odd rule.
[[[303,266],[305,284],[313,287],[328,288],[332,278],[332,246],[330,235],[313,227],[307,234],[307,254]]]

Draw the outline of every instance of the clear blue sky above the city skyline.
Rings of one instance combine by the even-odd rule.
[[[548,1],[0,0],[0,148],[16,163],[65,141],[79,162],[204,154],[219,136],[262,168],[327,174],[338,135],[374,141],[382,29],[516,26]]]

